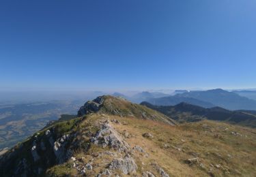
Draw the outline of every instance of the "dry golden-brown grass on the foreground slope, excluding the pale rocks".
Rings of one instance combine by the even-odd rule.
[[[91,114],[83,124],[94,125],[100,121],[100,117],[102,116],[99,114]],[[126,138],[130,146],[139,145],[149,153],[149,157],[134,153],[139,174],[146,170],[157,174],[150,165],[152,162],[157,162],[170,176],[253,176],[256,172],[255,129],[210,120],[173,127],[154,120],[110,115],[106,117],[122,123],[111,123],[119,133],[128,131],[132,135]],[[232,131],[240,135],[233,135]],[[152,133],[154,138],[143,138],[142,134],[145,132]],[[92,152],[104,150],[106,149],[92,146],[87,153],[77,153],[77,157],[89,157]],[[198,157],[199,163],[188,165],[185,161],[193,157]],[[200,166],[201,163],[203,165]],[[66,167],[70,167],[70,171]],[[72,161],[57,165],[48,172],[56,176],[76,175],[72,170]],[[91,175],[97,172],[99,170],[95,167]]]

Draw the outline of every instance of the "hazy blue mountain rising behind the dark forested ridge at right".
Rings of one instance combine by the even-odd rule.
[[[256,110],[256,100],[220,88],[208,91],[190,91],[169,97],[146,99],[145,101],[158,106],[173,106],[180,102],[186,102],[204,108],[220,106],[228,110]]]

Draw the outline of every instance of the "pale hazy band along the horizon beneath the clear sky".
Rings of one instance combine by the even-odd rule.
[[[190,88],[190,89],[147,89],[147,90],[131,90],[131,91],[122,91],[122,90],[111,90],[111,91],[82,91],[82,90],[69,90],[69,91],[57,91],[57,90],[0,90],[0,103],[33,103],[37,101],[54,101],[54,100],[83,100],[88,101],[95,99],[100,95],[113,95],[113,93],[121,93],[126,97],[133,97],[137,93],[150,92],[150,93],[163,93],[166,95],[173,95],[177,90],[186,90],[186,91],[208,91],[216,88],[202,89],[202,88]],[[221,88],[223,89],[223,88]],[[255,91],[256,89],[223,89],[225,91]]]

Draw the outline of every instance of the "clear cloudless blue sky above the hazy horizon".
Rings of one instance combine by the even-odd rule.
[[[0,1],[1,89],[256,88],[256,1]]]

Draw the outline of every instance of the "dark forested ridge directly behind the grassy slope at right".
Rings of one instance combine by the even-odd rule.
[[[256,127],[256,111],[230,111],[220,107],[202,108],[184,102],[175,106],[154,106],[147,102],[142,102],[141,105],[157,110],[180,123],[197,122],[199,120],[208,119]]]

